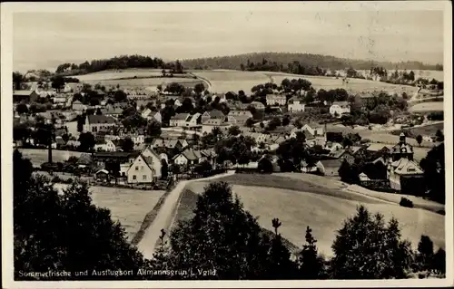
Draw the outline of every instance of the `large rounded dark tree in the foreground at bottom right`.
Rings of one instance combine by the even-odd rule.
[[[344,221],[331,246],[334,279],[405,278],[412,252],[410,242],[400,239],[399,222],[385,225],[380,213],[372,216],[364,206]]]

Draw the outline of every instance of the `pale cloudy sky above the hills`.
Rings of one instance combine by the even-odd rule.
[[[390,4],[391,5],[391,4]],[[15,71],[121,54],[176,59],[254,52],[443,63],[442,11],[15,13]]]

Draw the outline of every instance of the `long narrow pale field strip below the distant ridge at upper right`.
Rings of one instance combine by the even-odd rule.
[[[368,80],[362,79],[349,79],[349,83],[344,84],[342,79],[336,79],[335,77],[328,77],[328,76],[309,76],[309,75],[298,75],[298,74],[289,74],[289,73],[282,73],[282,72],[262,72],[263,74],[269,75],[274,83],[281,84],[282,80],[288,78],[302,78],[310,81],[312,86],[319,90],[324,89],[326,91],[333,90],[337,88],[343,88],[346,91],[351,91],[355,93],[359,92],[373,92],[373,91],[387,91],[390,93],[398,93],[401,94],[402,92],[414,93],[416,92],[416,88],[407,86],[407,85],[396,85],[390,84],[386,82],[372,82]]]

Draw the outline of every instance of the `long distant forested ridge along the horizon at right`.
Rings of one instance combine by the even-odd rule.
[[[330,55],[311,53],[244,53],[232,56],[216,56],[183,60],[185,69],[235,69],[239,70],[246,63],[278,63],[286,66],[288,63],[299,62],[305,66],[319,66],[325,69],[341,70],[353,68],[356,70],[370,70],[372,66],[381,66],[387,70],[435,70],[442,71],[441,64],[427,64],[418,61],[400,63],[376,62],[360,59],[339,58]]]

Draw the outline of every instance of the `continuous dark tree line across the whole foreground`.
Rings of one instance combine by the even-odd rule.
[[[13,163],[14,176],[21,176],[13,180],[15,280],[388,279],[446,271],[446,254],[441,248],[434,252],[429,236],[421,236],[418,250],[413,251],[410,242],[400,236],[395,218],[385,222],[382,215],[362,206],[336,232],[331,258],[319,253],[309,224],[305,243],[291,252],[279,232],[285,224],[273,218],[274,232],[264,231],[225,182],[205,187],[193,217],[180,221],[170,234],[162,231],[160,245],[148,260],[128,243],[110,211],[94,206],[86,184],[75,181],[59,192],[48,186],[49,179],[32,175],[30,160],[18,150]],[[184,274],[191,267],[207,274]],[[74,275],[94,269],[179,273]],[[49,270],[73,275],[40,278],[20,274]]]

